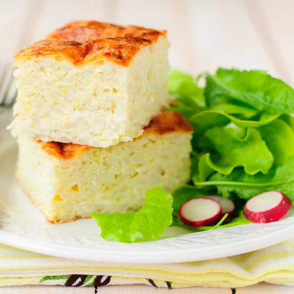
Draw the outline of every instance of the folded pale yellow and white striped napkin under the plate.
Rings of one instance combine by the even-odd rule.
[[[0,286],[243,287],[258,282],[294,286],[294,239],[258,251],[170,265],[123,265],[51,257],[0,245]]]

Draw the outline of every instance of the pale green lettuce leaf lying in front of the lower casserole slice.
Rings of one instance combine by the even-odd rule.
[[[146,202],[139,212],[99,214],[92,218],[101,227],[101,237],[131,243],[140,232],[145,240],[154,240],[172,224],[172,196],[159,186],[146,192]]]

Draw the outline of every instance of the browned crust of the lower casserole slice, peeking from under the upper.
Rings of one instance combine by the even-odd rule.
[[[154,133],[163,135],[172,132],[192,133],[193,128],[181,113],[172,111],[166,111],[158,114],[150,121],[149,125],[144,128],[144,134]],[[72,143],[44,143],[40,140],[37,140],[37,142],[42,145],[42,149],[45,150],[49,155],[65,160],[72,159],[73,157],[84,153],[89,148],[94,148],[88,145],[77,145]]]

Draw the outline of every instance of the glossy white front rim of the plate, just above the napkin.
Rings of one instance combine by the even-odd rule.
[[[289,218],[293,218],[291,216]],[[287,218],[288,219],[288,218]],[[248,224],[239,225],[246,226]],[[250,224],[249,224],[250,225]],[[223,229],[217,229],[223,230]],[[286,234],[286,232],[287,234]],[[292,234],[289,234],[293,232]],[[255,236],[245,240],[236,241],[233,243],[226,243],[222,245],[212,245],[208,247],[201,248],[181,248],[173,249],[168,251],[163,250],[153,250],[152,255],[148,251],[124,251],[124,250],[105,250],[105,249],[91,249],[91,248],[80,248],[77,246],[67,246],[67,245],[45,245],[41,241],[33,241],[29,238],[23,236],[18,236],[13,233],[9,233],[0,229],[1,243],[23,249],[26,251],[31,251],[43,255],[49,255],[53,257],[68,258],[82,261],[92,261],[92,262],[103,262],[103,263],[125,263],[125,264],[171,264],[177,262],[195,262],[203,261],[216,258],[230,257],[234,255],[244,254],[252,251],[256,251],[262,248],[270,247],[287,241],[294,237],[294,223],[285,226],[279,230],[271,231],[262,236]],[[197,234],[197,233],[191,233]],[[189,234],[190,235],[190,234]],[[277,238],[277,236],[280,236]],[[3,238],[4,237],[4,238]],[[171,237],[174,238],[174,237]],[[254,242],[256,239],[258,241],[266,242],[265,245],[260,245],[261,242]],[[278,239],[278,242],[275,240]],[[109,242],[109,241],[105,241]],[[112,242],[112,241],[110,241]],[[115,242],[115,241],[113,241]],[[232,246],[233,245],[233,246]],[[220,249],[221,250],[214,250]],[[111,253],[116,254],[111,254]],[[108,254],[106,254],[108,253]],[[109,254],[110,253],[110,254]],[[180,254],[181,253],[181,254]],[[118,255],[120,258],[118,258]],[[172,259],[171,259],[172,256]]]

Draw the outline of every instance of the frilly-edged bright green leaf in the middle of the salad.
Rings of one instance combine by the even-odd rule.
[[[204,181],[212,172],[229,174],[235,167],[244,167],[248,174],[269,172],[273,156],[257,129],[249,127],[240,139],[231,128],[214,127],[204,135],[217,153],[204,154],[199,160],[199,179]]]

